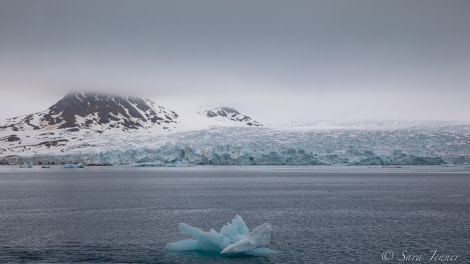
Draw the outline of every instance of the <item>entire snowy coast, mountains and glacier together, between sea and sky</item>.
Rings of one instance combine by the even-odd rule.
[[[148,99],[69,94],[0,125],[0,164],[470,165],[470,124],[293,122],[231,107],[180,115]]]

